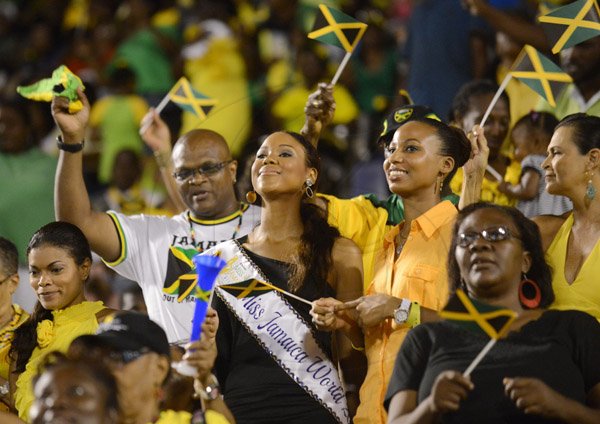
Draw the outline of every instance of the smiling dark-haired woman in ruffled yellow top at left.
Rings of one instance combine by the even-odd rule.
[[[15,332],[9,352],[11,400],[26,421],[38,364],[48,352],[65,352],[75,337],[93,333],[110,312],[102,302],[85,301],[92,255],[76,226],[66,222],[43,226],[31,238],[27,258],[38,303]]]

